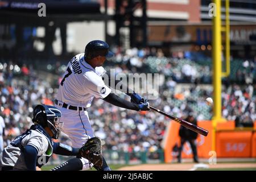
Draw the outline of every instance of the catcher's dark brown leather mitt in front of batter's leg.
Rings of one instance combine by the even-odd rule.
[[[102,167],[101,139],[93,137],[87,140],[80,148],[80,156],[88,159],[96,167]]]

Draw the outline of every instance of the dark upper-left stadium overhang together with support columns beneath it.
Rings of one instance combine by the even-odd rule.
[[[42,2],[46,7],[45,16],[39,16],[39,10],[43,7],[39,4]],[[45,27],[46,35],[43,38],[33,37],[33,39],[46,44],[42,52],[42,56],[46,57],[52,55],[52,42],[57,27],[60,27],[61,31],[63,47],[61,55],[66,55],[68,23],[107,22],[110,19],[113,19],[113,15],[101,13],[100,3],[94,0],[0,0],[0,24],[6,27],[15,24],[15,48],[22,50],[24,47],[23,30],[25,27]],[[33,51],[31,55],[38,55],[39,52],[35,52],[34,49]]]

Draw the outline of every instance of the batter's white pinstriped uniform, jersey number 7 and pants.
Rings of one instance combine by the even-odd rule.
[[[105,98],[111,89],[105,85],[103,67],[92,68],[84,59],[84,53],[73,57],[59,86],[55,106],[61,111],[63,132],[69,136],[73,147],[80,148],[94,137],[86,109],[93,98]],[[66,107],[66,108],[65,108]],[[76,107],[76,110],[72,110]],[[89,161],[82,158],[83,170],[89,169]],[[92,166],[91,166],[92,167]]]

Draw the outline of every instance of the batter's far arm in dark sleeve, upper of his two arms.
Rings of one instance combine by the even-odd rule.
[[[112,78],[110,74],[105,73],[105,75],[102,77],[102,80],[105,82],[106,85],[108,85],[110,88],[119,90],[128,96],[131,96],[133,93],[133,90],[131,90],[127,85],[123,84],[121,80],[115,80],[115,78]],[[114,83],[114,84],[112,84]]]

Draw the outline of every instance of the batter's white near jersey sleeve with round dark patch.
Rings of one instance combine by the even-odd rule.
[[[100,76],[94,72],[84,74],[86,83],[85,89],[96,98],[105,98],[111,92],[111,89],[105,85]]]

